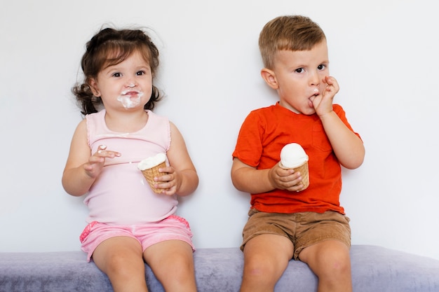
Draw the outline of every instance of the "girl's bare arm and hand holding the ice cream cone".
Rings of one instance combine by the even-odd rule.
[[[170,167],[162,169],[168,174],[158,178],[158,183],[163,181],[158,184],[158,188],[163,188],[162,193],[165,195],[190,195],[198,187],[198,174],[182,134],[173,123],[170,123],[170,139],[170,148],[166,153]]]

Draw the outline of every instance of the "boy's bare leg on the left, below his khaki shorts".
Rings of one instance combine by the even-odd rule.
[[[281,235],[258,235],[244,247],[241,292],[274,291],[292,258],[292,242]]]

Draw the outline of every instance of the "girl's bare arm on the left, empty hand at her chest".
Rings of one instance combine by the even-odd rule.
[[[69,156],[62,174],[62,186],[70,195],[84,195],[102,171],[106,158],[114,158],[120,153],[107,151],[105,146],[91,155],[87,141],[86,120],[82,120],[74,132]]]

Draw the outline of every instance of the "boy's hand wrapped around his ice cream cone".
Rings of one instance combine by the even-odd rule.
[[[294,169],[283,169],[276,163],[269,171],[269,181],[273,188],[298,192],[302,190],[302,175]]]

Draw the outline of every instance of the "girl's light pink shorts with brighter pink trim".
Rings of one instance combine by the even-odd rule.
[[[186,219],[171,215],[158,222],[142,225],[109,225],[93,221],[84,228],[79,240],[81,249],[87,253],[90,261],[96,247],[111,237],[126,236],[137,239],[144,251],[149,246],[166,240],[182,240],[187,242],[195,251],[191,237],[192,232]]]

